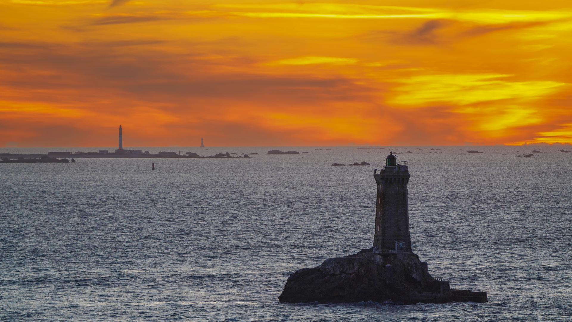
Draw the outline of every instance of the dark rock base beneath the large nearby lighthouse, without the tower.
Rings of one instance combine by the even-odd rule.
[[[286,303],[483,303],[487,293],[450,289],[449,282],[428,274],[427,263],[414,253],[379,254],[363,249],[297,270],[278,299]]]

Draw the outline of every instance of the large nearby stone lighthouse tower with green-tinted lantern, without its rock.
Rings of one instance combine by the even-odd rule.
[[[381,253],[411,252],[407,162],[390,152],[383,170],[375,170],[378,197],[375,209],[374,250]]]

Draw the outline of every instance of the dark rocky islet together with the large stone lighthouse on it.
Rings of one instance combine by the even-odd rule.
[[[487,302],[486,292],[451,289],[437,280],[427,262],[412,252],[409,233],[407,162],[391,152],[378,184],[374,245],[345,257],[328,258],[315,268],[292,273],[278,297],[284,303],[446,303]]]

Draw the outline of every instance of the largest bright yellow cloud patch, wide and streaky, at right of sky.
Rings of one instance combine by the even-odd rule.
[[[398,80],[408,85],[395,89],[390,103],[422,105],[434,102],[471,104],[515,98],[535,98],[553,93],[564,85],[555,81],[504,81],[507,74],[441,74],[414,76]]]

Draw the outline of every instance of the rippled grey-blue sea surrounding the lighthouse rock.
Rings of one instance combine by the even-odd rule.
[[[0,320],[569,322],[566,148],[132,147],[251,158],[0,163]],[[488,303],[279,303],[289,274],[371,247],[390,150],[409,165],[413,251]]]

